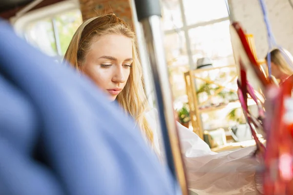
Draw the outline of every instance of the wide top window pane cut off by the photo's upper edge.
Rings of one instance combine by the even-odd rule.
[[[225,0],[183,0],[187,24],[228,17]]]

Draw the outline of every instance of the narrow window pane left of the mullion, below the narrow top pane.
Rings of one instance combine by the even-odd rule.
[[[168,66],[188,64],[186,39],[183,31],[165,35],[164,44]]]

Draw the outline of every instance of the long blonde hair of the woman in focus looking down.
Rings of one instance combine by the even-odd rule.
[[[153,143],[153,133],[145,116],[149,108],[143,87],[142,67],[137,53],[136,38],[126,22],[114,14],[85,20],[75,32],[63,60],[68,61],[77,70],[81,70],[91,43],[96,38],[109,34],[123,35],[132,39],[132,67],[126,86],[117,96],[117,101],[126,113],[135,119],[148,141]]]

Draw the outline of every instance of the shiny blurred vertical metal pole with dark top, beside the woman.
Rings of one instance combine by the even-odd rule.
[[[156,106],[159,112],[167,165],[174,179],[179,182],[182,195],[188,195],[185,167],[181,156],[172,93],[168,80],[160,2],[159,0],[134,0],[134,2],[137,19],[143,26],[146,50],[154,79]],[[175,186],[175,191],[177,190]]]

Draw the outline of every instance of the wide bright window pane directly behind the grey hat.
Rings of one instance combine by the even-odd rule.
[[[188,31],[193,60],[208,57],[213,66],[234,64],[230,31],[230,21],[222,21]]]

